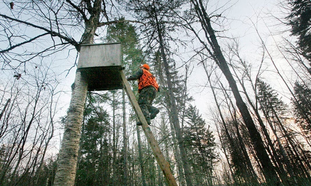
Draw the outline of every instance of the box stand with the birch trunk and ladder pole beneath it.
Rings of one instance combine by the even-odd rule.
[[[104,91],[124,88],[134,108],[136,116],[142,122],[148,143],[164,174],[169,186],[177,186],[169,163],[161,153],[158,142],[152,134],[141,108],[124,75],[121,65],[121,44],[102,43],[81,45],[77,65],[75,88],[68,109],[62,147],[59,153],[58,167],[54,184],[73,186],[76,177],[81,122],[87,91]],[[83,89],[83,90],[81,90]],[[87,91],[86,91],[87,89]],[[79,107],[76,105],[80,105]],[[81,108],[81,109],[78,109]]]

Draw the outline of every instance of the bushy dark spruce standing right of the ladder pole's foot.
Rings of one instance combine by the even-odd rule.
[[[196,107],[186,109],[187,126],[183,129],[184,142],[197,184],[212,185],[213,164],[216,161],[215,138]]]

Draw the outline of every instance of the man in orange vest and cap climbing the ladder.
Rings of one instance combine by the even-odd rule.
[[[160,110],[152,106],[153,100],[156,98],[156,93],[159,91],[159,85],[156,78],[150,73],[148,64],[143,64],[134,75],[127,78],[128,81],[138,79],[138,104],[142,109],[148,125],[151,124],[151,119],[155,118]],[[142,122],[137,122],[141,126]]]

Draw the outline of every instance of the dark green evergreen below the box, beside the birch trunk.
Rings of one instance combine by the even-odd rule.
[[[88,107],[85,109],[85,119],[81,130],[80,156],[78,161],[78,170],[76,185],[99,185],[105,177],[103,175],[109,172],[109,151],[110,146],[107,138],[109,133],[108,114],[100,106],[95,106],[100,99],[89,98]],[[106,134],[106,135],[105,135]],[[107,159],[108,158],[108,159]],[[108,173],[103,174],[101,171]],[[104,181],[109,183],[109,180]]]

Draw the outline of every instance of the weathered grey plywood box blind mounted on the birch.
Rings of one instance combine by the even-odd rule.
[[[81,45],[77,68],[88,91],[122,89],[121,43]]]

